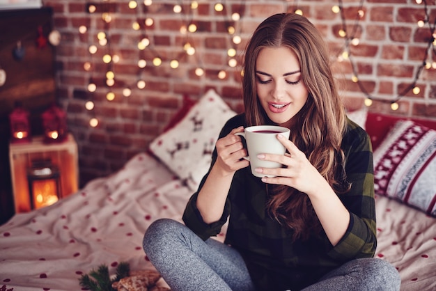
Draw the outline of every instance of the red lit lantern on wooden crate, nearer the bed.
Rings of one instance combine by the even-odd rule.
[[[56,105],[52,105],[42,113],[45,143],[61,143],[68,136],[67,115]]]

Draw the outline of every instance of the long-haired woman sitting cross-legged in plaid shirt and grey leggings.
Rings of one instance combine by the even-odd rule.
[[[172,290],[399,290],[377,245],[371,142],[345,116],[322,36],[305,17],[277,14],[244,58],[245,113],[221,130],[185,225],[156,221],[144,250]],[[283,164],[251,174],[240,136],[290,128]],[[225,244],[217,235],[228,220]]]

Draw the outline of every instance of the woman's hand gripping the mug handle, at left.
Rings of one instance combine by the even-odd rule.
[[[240,126],[233,129],[229,134],[217,141],[217,161],[214,168],[220,171],[222,175],[233,174],[240,168],[249,166],[249,162],[242,157],[247,155],[240,136],[236,132],[244,132],[244,127]]]

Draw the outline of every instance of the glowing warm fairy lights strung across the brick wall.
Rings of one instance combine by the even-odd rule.
[[[426,0],[415,0],[416,4],[421,4],[423,6],[424,16],[423,19],[420,19],[417,22],[417,26],[419,28],[423,28],[428,26],[430,37],[428,39],[426,53],[423,58],[421,65],[416,68],[414,79],[409,86],[403,89],[398,95],[394,98],[394,100],[383,99],[382,97],[375,97],[368,93],[364,86],[364,82],[359,78],[359,70],[358,66],[352,55],[352,46],[358,46],[360,43],[359,38],[357,37],[359,30],[359,22],[364,17],[364,0],[359,2],[359,8],[357,9],[357,14],[355,17],[354,24],[352,26],[348,26],[346,22],[344,5],[342,0],[338,0],[338,4],[332,6],[333,13],[338,13],[341,15],[341,24],[342,28],[338,31],[338,35],[341,36],[344,40],[343,49],[337,55],[337,61],[349,61],[352,67],[352,77],[351,80],[355,82],[362,93],[366,96],[365,104],[366,106],[371,106],[373,100],[377,100],[380,102],[389,102],[391,103],[391,109],[397,110],[399,105],[398,101],[401,97],[405,96],[407,93],[412,91],[415,95],[420,93],[420,88],[417,86],[417,82],[421,75],[421,72],[426,70],[436,70],[436,19],[435,22],[430,23],[430,15],[429,8]],[[240,65],[240,61],[238,61],[238,45],[242,42],[242,36],[240,32],[240,25],[238,22],[241,21],[242,17],[244,17],[245,13],[245,1],[241,1],[238,3],[237,8],[233,8],[232,5],[227,5],[225,0],[217,1],[213,8],[217,13],[223,15],[224,24],[226,25],[228,38],[226,47],[228,47],[226,51],[227,63],[223,63],[222,67],[217,70],[217,78],[218,79],[226,79],[229,70],[235,70],[235,68]],[[91,118],[89,120],[89,125],[91,127],[97,127],[99,120],[95,116],[95,102],[92,100],[93,94],[98,91],[98,85],[96,84],[94,74],[97,74],[96,68],[102,64],[104,64],[106,74],[105,74],[105,84],[104,90],[106,90],[106,99],[110,102],[113,101],[117,94],[113,90],[114,85],[116,84],[116,72],[114,72],[114,65],[120,62],[120,56],[114,53],[114,49],[111,45],[111,22],[114,20],[114,9],[111,9],[110,0],[102,0],[98,4],[88,3],[87,9],[90,14],[101,14],[101,20],[103,22],[102,29],[97,33],[91,31],[86,26],[79,26],[79,33],[85,34],[88,33],[88,52],[89,52],[89,60],[84,62],[84,71],[88,72],[89,82],[88,82],[88,95],[91,97],[85,104],[85,107],[88,111],[91,112]],[[121,5],[121,4],[120,4]],[[123,4],[124,5],[124,4]],[[198,10],[199,3],[195,0],[178,0],[176,4],[172,4],[173,13],[175,15],[180,16],[181,24],[180,24],[180,36],[183,38],[182,47],[180,47],[179,52],[174,52],[174,47],[172,48],[171,54],[169,56],[162,56],[159,53],[159,50],[155,48],[152,40],[150,38],[149,33],[153,34],[152,26],[155,24],[155,19],[150,16],[148,10],[150,6],[153,5],[153,0],[130,0],[126,3],[130,10],[134,11],[134,20],[132,20],[132,30],[138,33],[137,39],[137,49],[138,49],[138,60],[137,60],[137,77],[135,80],[130,81],[130,84],[127,82],[123,82],[124,88],[120,91],[120,93],[124,97],[129,97],[132,95],[132,90],[137,88],[138,90],[143,90],[146,88],[146,79],[143,78],[143,72],[146,70],[150,64],[146,61],[150,56],[153,56],[151,59],[151,65],[155,67],[159,67],[162,63],[168,63],[169,67],[173,70],[176,70],[180,66],[180,61],[183,61],[185,58],[194,58],[196,61],[196,68],[194,70],[194,74],[198,78],[201,78],[205,75],[205,65],[203,64],[203,60],[201,58],[201,54],[198,54],[199,47],[196,47],[195,41],[192,36],[195,35],[198,31],[197,22],[195,19],[196,10]],[[292,11],[293,13],[297,13],[302,15],[303,12],[298,8],[298,2],[293,1],[293,6],[290,7],[290,1],[285,0],[283,2],[283,9],[285,11]],[[237,11],[233,11],[232,9],[238,9]],[[351,28],[350,31],[348,28]],[[94,43],[95,34],[98,40],[98,45]],[[99,51],[103,52],[97,54]],[[101,58],[100,58],[101,55]],[[98,73],[100,74],[100,73]],[[99,85],[100,86],[100,85]],[[100,92],[104,91],[100,88]]]

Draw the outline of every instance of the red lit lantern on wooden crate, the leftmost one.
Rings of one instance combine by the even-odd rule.
[[[29,111],[20,104],[9,115],[11,142],[27,143],[31,141],[31,130],[29,123]]]

